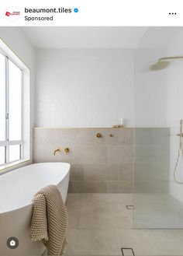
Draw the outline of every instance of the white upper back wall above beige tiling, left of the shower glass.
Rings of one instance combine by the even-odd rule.
[[[133,126],[130,49],[37,49],[36,126]]]

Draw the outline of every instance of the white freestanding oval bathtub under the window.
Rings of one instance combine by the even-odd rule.
[[[64,202],[70,174],[69,163],[35,163],[0,176],[0,255],[36,256],[43,254],[42,242],[29,237],[33,212],[33,195],[48,184],[59,188]],[[7,246],[9,237],[16,237],[19,246]]]

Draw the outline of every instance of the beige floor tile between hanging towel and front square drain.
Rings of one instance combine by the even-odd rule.
[[[68,230],[67,255],[120,255],[116,230]]]

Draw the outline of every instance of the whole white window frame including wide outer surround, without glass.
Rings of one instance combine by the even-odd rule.
[[[0,52],[5,56],[5,141],[0,141],[0,146],[5,147],[5,163],[0,165],[0,171],[12,170],[16,165],[23,166],[31,163],[31,120],[30,120],[30,69],[0,38]],[[9,61],[12,61],[21,70],[21,139],[9,141]],[[8,114],[8,115],[7,115]],[[9,146],[20,146],[19,159],[9,162]]]

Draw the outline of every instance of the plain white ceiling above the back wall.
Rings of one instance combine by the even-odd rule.
[[[22,30],[36,48],[136,48],[148,27],[26,26]]]

